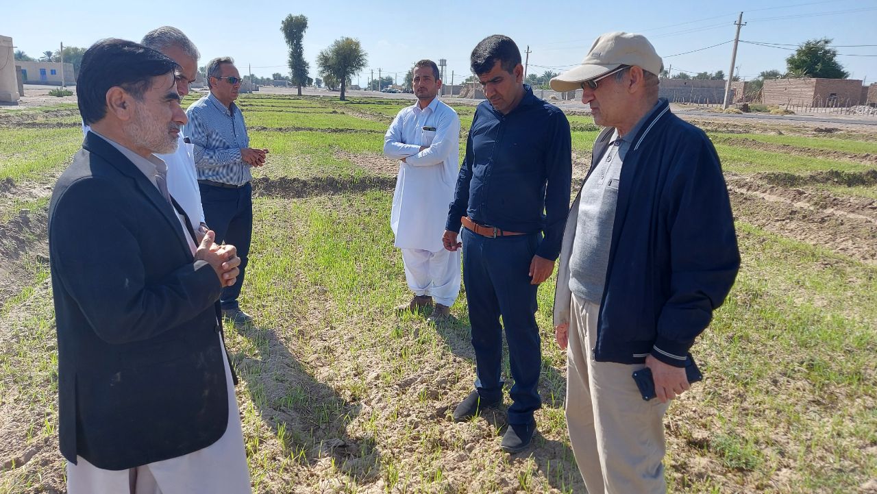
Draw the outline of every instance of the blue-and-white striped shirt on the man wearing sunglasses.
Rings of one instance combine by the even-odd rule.
[[[240,159],[240,150],[250,147],[244,115],[232,103],[231,111],[212,94],[189,106],[183,133],[195,145],[198,180],[244,185],[253,175]]]

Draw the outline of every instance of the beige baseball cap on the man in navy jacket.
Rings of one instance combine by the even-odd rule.
[[[622,65],[636,65],[654,75],[660,75],[664,69],[664,62],[642,34],[607,32],[594,41],[581,65],[570,68],[549,83],[555,91],[572,91],[580,89],[581,82],[595,79]]]

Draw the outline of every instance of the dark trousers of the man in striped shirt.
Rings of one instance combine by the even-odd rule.
[[[247,183],[237,189],[199,183],[204,223],[217,234],[216,243],[238,248],[240,274],[238,281],[227,286],[219,296],[223,309],[238,309],[240,288],[244,286],[244,271],[253,238],[253,186]]]

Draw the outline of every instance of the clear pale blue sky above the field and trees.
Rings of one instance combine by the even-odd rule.
[[[368,54],[365,83],[374,76],[399,76],[414,61],[447,60],[457,82],[469,75],[468,56],[489,34],[515,39],[522,52],[529,45],[529,72],[562,70],[581,62],[602,32],[645,34],[665,57],[664,65],[692,73],[725,74],[731,64],[731,43],[738,12],[747,25],[740,39],[788,45],[765,47],[741,43],[738,74],[751,79],[760,71],[786,68],[785,59],[806,39],[831,38],[840,54],[877,55],[877,0],[674,0],[664,2],[458,1],[398,3],[348,0],[292,2],[171,2],[135,3],[82,0],[13,2],[5,10],[16,20],[4,22],[0,34],[11,36],[18,49],[32,56],[65,46],[88,47],[101,38],[139,40],[160,25],[175,25],[200,49],[201,65],[210,58],[231,55],[241,74],[247,64],[255,75],[287,73],[288,48],[280,32],[282,18],[303,14],[309,20],[304,36],[310,75],[317,76],[317,53],[334,39],[360,39]],[[135,6],[136,5],[136,6]],[[152,5],[152,7],[150,7]],[[4,20],[11,20],[7,18]],[[839,47],[839,46],[858,47]],[[860,45],[872,45],[862,47]],[[704,47],[711,47],[700,50]],[[783,49],[787,48],[787,49]],[[693,50],[695,53],[682,54]],[[679,54],[677,56],[668,56]],[[877,82],[877,56],[839,56],[851,78]],[[354,83],[356,77],[354,77]]]

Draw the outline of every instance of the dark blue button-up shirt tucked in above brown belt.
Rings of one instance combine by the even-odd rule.
[[[446,229],[460,231],[460,218],[468,216],[508,232],[543,232],[536,254],[557,259],[569,209],[571,146],[566,115],[533,96],[528,85],[508,115],[482,102],[469,129]]]

